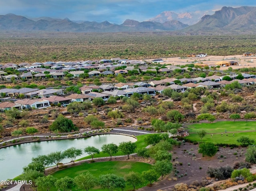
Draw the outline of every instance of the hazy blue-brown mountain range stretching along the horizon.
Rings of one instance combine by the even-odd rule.
[[[112,24],[108,21],[71,21],[68,18],[49,17],[28,19],[15,14],[0,15],[0,30],[10,31],[50,31],[50,32],[160,32],[177,34],[254,34],[256,33],[256,7],[239,8],[222,7],[213,15],[204,15],[196,23],[196,17],[190,13],[175,14],[162,12],[155,18],[138,22],[126,20],[124,23]],[[184,24],[187,23],[187,24]]]

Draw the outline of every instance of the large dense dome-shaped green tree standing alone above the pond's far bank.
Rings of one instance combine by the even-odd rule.
[[[78,128],[74,126],[72,120],[64,117],[62,114],[59,114],[56,120],[50,125],[50,130],[58,132],[71,132],[72,130],[78,130]]]

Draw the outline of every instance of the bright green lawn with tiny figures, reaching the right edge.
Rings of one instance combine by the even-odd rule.
[[[202,141],[209,141],[215,144],[239,144],[236,140],[240,136],[247,136],[250,139],[255,139],[256,137],[256,122],[223,121],[215,123],[200,123],[189,125],[188,129],[190,136],[187,138],[198,142],[201,141],[197,134],[199,130],[205,130],[207,132],[206,136],[202,138]],[[225,129],[227,130],[226,134]],[[223,134],[222,136],[221,133]],[[212,137],[211,134],[213,134]]]

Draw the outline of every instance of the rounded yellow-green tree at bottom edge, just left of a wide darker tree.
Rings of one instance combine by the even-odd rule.
[[[98,180],[90,172],[82,173],[74,178],[78,189],[89,191],[98,184]]]

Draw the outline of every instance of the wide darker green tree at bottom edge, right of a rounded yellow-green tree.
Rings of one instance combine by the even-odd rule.
[[[123,177],[118,177],[115,174],[106,174],[99,177],[100,187],[102,189],[108,189],[108,191],[114,191],[114,189],[124,189],[125,180]]]

